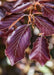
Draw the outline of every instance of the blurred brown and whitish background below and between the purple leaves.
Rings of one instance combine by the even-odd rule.
[[[16,0],[0,0],[0,5],[5,1]],[[35,27],[32,31],[31,43],[37,38],[39,30]],[[34,39],[34,40],[33,40]],[[26,49],[24,59],[19,61],[16,65],[11,66],[10,61],[5,56],[5,45],[3,38],[0,38],[0,75],[54,75],[54,35],[47,37],[50,49],[51,59],[41,66],[38,62],[28,59],[28,53],[30,52],[32,45]]]

